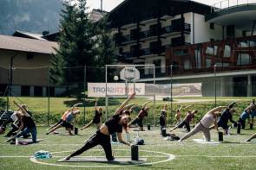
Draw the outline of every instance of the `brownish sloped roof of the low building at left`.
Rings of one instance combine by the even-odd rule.
[[[58,44],[53,41],[42,41],[8,35],[0,35],[0,49],[40,54],[56,54],[54,48],[58,47]]]

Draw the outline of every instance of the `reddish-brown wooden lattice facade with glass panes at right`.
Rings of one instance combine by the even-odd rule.
[[[188,66],[184,60],[189,61]],[[166,66],[171,65],[174,66],[174,74],[213,72],[214,65],[217,65],[217,71],[256,68],[256,35],[169,47]]]

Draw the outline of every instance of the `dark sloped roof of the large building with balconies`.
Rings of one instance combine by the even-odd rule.
[[[190,0],[125,0],[108,13],[111,28],[141,22],[158,16],[177,16],[194,12],[206,15],[211,7]]]

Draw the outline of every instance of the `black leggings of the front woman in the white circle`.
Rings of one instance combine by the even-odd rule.
[[[82,154],[87,151],[89,148],[94,148],[97,145],[102,145],[102,148],[105,151],[106,158],[108,161],[113,161],[114,156],[112,155],[111,143],[110,143],[110,135],[104,135],[99,130],[92,135],[89,140],[84,144],[82,148],[76,150],[70,157],[74,157],[78,154]]]

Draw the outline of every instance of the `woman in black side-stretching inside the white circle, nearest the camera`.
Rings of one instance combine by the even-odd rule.
[[[82,148],[79,148],[73,154],[70,154],[68,157],[66,157],[64,160],[67,161],[71,157],[82,154],[89,148],[94,148],[97,145],[102,145],[107,160],[113,161],[114,156],[112,155],[110,135],[115,132],[117,132],[119,142],[130,146],[130,143],[124,142],[121,137],[122,127],[128,124],[130,118],[128,115],[121,115],[121,110],[123,110],[125,105],[128,104],[128,101],[134,97],[135,93],[133,93],[127,100],[125,100],[121,104],[121,106],[117,110],[115,110],[115,114],[102,124],[101,128],[98,129],[96,133],[89,138],[89,140],[84,144]]]

